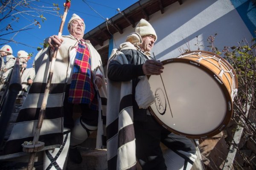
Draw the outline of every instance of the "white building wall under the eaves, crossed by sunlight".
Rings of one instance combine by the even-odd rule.
[[[220,51],[252,37],[230,0],[183,0],[182,5],[176,2],[164,8],[164,14],[159,11],[151,15],[149,22],[157,33],[151,52],[160,60],[178,57],[186,49],[198,50],[197,42],[205,47],[200,46],[200,50],[208,51],[207,38],[215,33],[215,47]],[[123,34],[114,34],[113,47],[134,31],[129,26]]]

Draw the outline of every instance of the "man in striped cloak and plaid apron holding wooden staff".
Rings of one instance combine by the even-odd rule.
[[[58,48],[39,138],[45,143],[44,169],[52,166],[62,169],[69,145],[70,159],[81,163],[76,146],[97,129],[96,147],[103,147],[102,115],[106,110],[107,88],[101,57],[90,41],[83,39],[85,24],[81,17],[73,14],[67,27],[70,35],[49,37],[49,47],[35,61],[38,71],[5,149],[7,154],[21,152],[20,142],[33,140],[34,122],[41,108],[53,48]],[[75,107],[80,108],[81,117],[73,121]],[[50,150],[55,147],[59,148]]]

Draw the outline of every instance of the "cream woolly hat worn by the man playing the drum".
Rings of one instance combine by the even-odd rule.
[[[145,35],[154,35],[157,40],[156,31],[154,31],[154,28],[151,26],[151,24],[144,19],[141,19],[140,22],[137,23],[135,32],[139,33],[141,37]]]

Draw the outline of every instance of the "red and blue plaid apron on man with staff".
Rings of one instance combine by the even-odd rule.
[[[90,57],[87,45],[79,43],[73,65],[68,102],[88,104],[90,109],[98,110],[97,91],[93,88]]]

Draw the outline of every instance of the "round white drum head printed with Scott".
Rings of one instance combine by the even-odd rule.
[[[196,65],[169,62],[161,77],[149,77],[155,95],[150,111],[164,127],[191,138],[220,132],[227,119],[228,104],[213,76]]]

